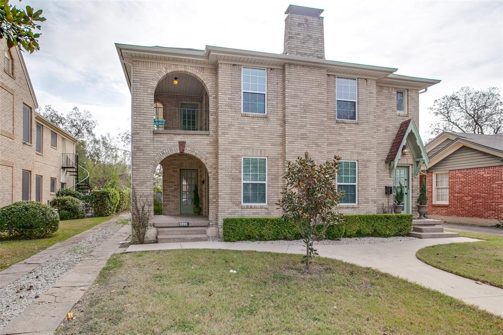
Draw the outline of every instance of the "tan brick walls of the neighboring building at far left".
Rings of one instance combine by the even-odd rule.
[[[0,41],[0,55],[7,50]],[[30,200],[35,200],[35,178],[42,176],[41,202],[47,203],[55,196],[50,192],[50,179],[56,179],[56,190],[61,177],[68,187],[73,177],[61,173],[61,153],[74,153],[75,139],[37,116],[36,100],[32,94],[29,77],[18,50],[12,49],[14,74],[0,70],[0,207],[22,199],[22,172],[30,172]],[[23,105],[31,109],[31,141],[23,140]],[[42,153],[35,150],[36,125],[42,126]],[[51,130],[57,133],[57,147],[51,147]],[[63,138],[66,147],[63,150]]]

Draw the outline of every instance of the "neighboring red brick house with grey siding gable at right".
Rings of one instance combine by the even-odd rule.
[[[446,131],[426,150],[430,218],[482,225],[503,220],[503,134]]]

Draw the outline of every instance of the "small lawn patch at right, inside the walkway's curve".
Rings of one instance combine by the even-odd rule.
[[[417,258],[456,275],[503,288],[503,236],[456,232],[484,241],[427,246],[417,251]]]

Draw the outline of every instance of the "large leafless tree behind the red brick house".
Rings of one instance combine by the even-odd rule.
[[[497,134],[503,131],[503,102],[495,87],[479,91],[462,87],[451,95],[435,100],[430,111],[438,119],[430,129],[432,135],[444,130],[473,134]]]

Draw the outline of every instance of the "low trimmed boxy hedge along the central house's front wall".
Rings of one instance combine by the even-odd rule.
[[[388,237],[405,235],[412,229],[412,214],[347,214],[344,221],[327,229],[327,239],[342,237]],[[295,225],[280,217],[236,217],[223,219],[224,241],[299,239]]]

